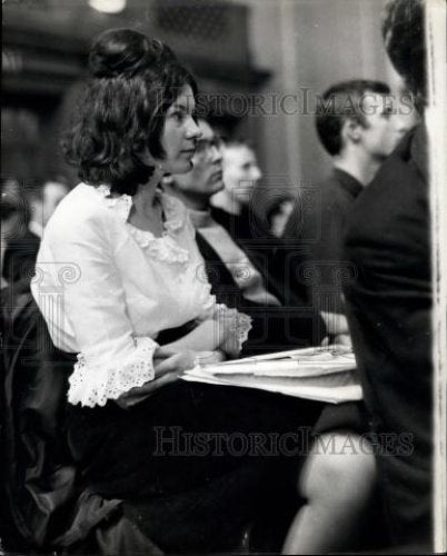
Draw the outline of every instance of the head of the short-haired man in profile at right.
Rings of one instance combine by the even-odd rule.
[[[361,131],[375,126],[381,120],[391,117],[390,89],[381,81],[355,79],[342,81],[330,87],[317,102],[316,126],[318,137],[330,156],[340,155],[349,139],[356,140],[359,133],[349,133],[349,130]],[[385,156],[393,150],[395,142],[391,137],[385,137],[376,147],[385,151]],[[393,133],[391,128],[388,131]],[[388,143],[393,148],[388,148]],[[388,152],[389,150],[389,152]]]

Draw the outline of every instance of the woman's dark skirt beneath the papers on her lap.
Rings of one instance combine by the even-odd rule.
[[[226,550],[266,505],[297,496],[320,411],[298,398],[178,380],[128,410],[70,406],[69,444],[86,485],[123,499],[161,549]]]

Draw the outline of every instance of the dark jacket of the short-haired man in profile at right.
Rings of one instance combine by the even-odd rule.
[[[302,191],[287,222],[275,268],[285,269],[295,296],[319,310],[344,312],[341,284],[352,272],[342,259],[346,220],[362,189],[356,178],[334,169]]]

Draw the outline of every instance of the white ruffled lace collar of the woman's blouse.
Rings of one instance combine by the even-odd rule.
[[[132,208],[132,198],[130,195],[111,197],[110,187],[106,185],[99,186],[97,191],[102,196],[106,205],[126,225],[141,248],[149,251],[157,259],[167,262],[187,262],[189,260],[189,251],[180,247],[175,240],[176,232],[183,227],[186,219],[186,209],[180,201],[157,190],[156,195],[161,202],[165,214],[165,231],[161,237],[156,237],[151,231],[140,230],[128,221]]]

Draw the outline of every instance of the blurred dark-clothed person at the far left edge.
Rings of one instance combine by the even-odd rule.
[[[28,229],[29,208],[20,183],[1,183],[1,286],[23,282],[29,288],[40,240]]]

